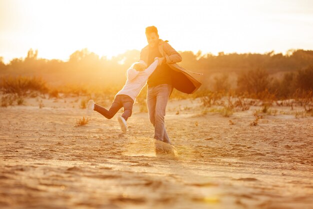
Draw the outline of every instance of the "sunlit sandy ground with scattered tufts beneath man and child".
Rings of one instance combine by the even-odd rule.
[[[313,208],[313,117],[290,108],[251,126],[253,108],[223,117],[171,101],[173,156],[155,153],[137,106],[121,134],[96,112],[75,126],[77,98],[42,104],[0,108],[0,208]]]

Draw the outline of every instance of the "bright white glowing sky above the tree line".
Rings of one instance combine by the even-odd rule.
[[[177,51],[313,50],[311,0],[0,0],[0,57],[30,48],[46,59],[83,48],[111,57],[141,50],[152,25]]]

